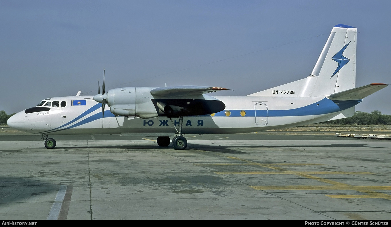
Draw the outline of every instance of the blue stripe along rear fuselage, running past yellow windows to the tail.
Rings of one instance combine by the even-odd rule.
[[[244,117],[290,117],[290,116],[308,116],[308,115],[320,115],[327,113],[339,112],[346,110],[352,106],[361,103],[361,100],[352,101],[333,101],[327,98],[320,100],[319,102],[309,104],[300,108],[291,110],[244,110],[246,115]],[[319,104],[319,105],[318,105]],[[226,117],[223,110],[215,114],[215,117]],[[231,115],[229,117],[241,117],[240,111],[242,110],[230,110]],[[210,116],[210,115],[202,115]]]

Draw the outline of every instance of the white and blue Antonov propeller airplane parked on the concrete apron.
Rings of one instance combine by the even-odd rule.
[[[357,28],[335,25],[308,77],[247,96],[210,96],[218,86],[124,87],[90,96],[52,97],[9,118],[42,135],[143,133],[159,146],[187,147],[184,134],[247,133],[351,117],[384,83],[355,86]],[[109,110],[105,110],[109,108]],[[173,120],[174,118],[174,120]],[[170,141],[170,136],[175,137]]]

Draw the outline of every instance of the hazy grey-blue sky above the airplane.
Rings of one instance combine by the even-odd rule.
[[[358,28],[356,85],[391,83],[390,9],[390,1],[358,0],[2,0],[0,110],[78,90],[94,95],[104,68],[106,88],[167,83],[251,94],[307,77],[337,24]],[[390,89],[356,110],[391,114]]]

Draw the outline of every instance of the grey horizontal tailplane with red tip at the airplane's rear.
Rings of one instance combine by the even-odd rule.
[[[378,90],[388,86],[385,83],[371,83],[358,88],[352,88],[343,92],[337,92],[328,95],[327,98],[332,100],[357,100],[367,97],[368,95],[377,92]]]

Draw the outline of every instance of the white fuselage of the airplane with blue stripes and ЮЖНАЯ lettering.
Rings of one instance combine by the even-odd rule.
[[[183,117],[182,133],[257,132],[328,121],[353,115],[353,106],[361,101],[336,103],[325,96],[215,96],[214,98],[222,101],[226,108],[211,115]],[[75,104],[75,100],[85,100],[85,104]],[[35,109],[30,110],[35,111],[30,113],[23,110],[10,118],[9,124],[25,132],[44,135],[121,133],[173,135],[176,132],[174,124],[176,128],[179,125],[178,118],[172,119],[173,124],[168,117],[142,119],[116,116],[107,106],[102,119],[102,104],[94,101],[92,96],[55,97],[49,101],[62,104],[65,102],[65,106],[50,106],[49,110]],[[151,108],[155,108],[152,102],[150,105]],[[344,114],[344,110],[348,110],[348,115]]]

